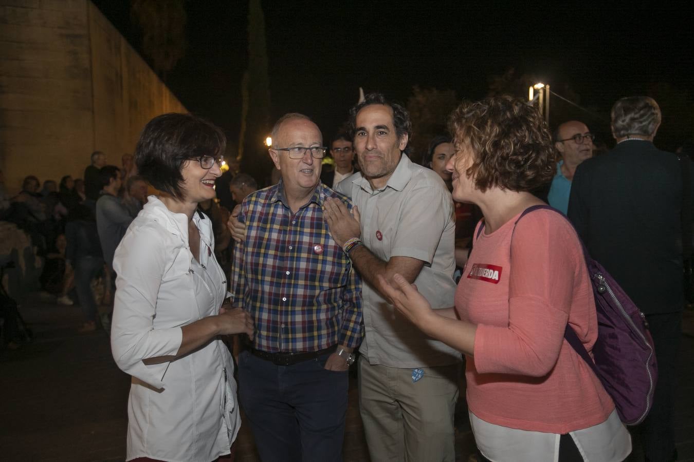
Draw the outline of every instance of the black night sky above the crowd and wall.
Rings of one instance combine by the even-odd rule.
[[[95,3],[137,49],[129,3]],[[413,85],[481,98],[489,76],[511,66],[550,82],[557,93],[568,86],[604,117],[617,98],[648,94],[655,82],[688,91],[690,102],[694,97],[694,25],[686,2],[262,3],[271,119],[303,112],[325,136],[346,119],[359,86],[402,103]],[[232,141],[246,69],[247,8],[246,1],[187,1],[189,49],[167,75],[182,103]]]

